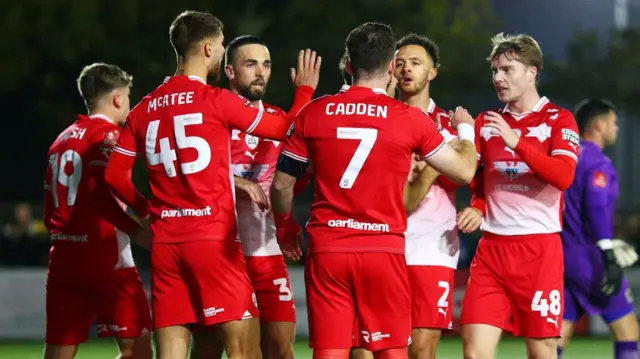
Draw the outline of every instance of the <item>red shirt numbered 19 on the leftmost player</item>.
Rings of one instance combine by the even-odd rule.
[[[133,266],[130,255],[119,254],[129,246],[125,233],[138,224],[103,183],[119,134],[106,116],[79,115],[49,148],[44,222],[52,239],[51,267],[114,269],[119,261],[126,262],[120,267]]]

